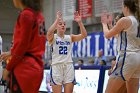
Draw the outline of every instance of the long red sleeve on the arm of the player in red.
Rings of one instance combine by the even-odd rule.
[[[8,71],[12,71],[13,68],[23,60],[23,57],[28,50],[31,43],[32,29],[33,29],[33,15],[28,12],[24,12],[20,15],[19,23],[20,23],[20,38],[17,40],[16,47],[11,50],[11,60],[7,64],[6,69]],[[16,32],[15,32],[16,33]],[[14,37],[16,40],[16,37]]]

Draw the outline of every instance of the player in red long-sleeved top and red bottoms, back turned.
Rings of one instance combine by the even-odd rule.
[[[21,13],[16,22],[10,52],[0,56],[11,59],[3,78],[11,75],[12,93],[38,93],[43,78],[42,55],[45,51],[45,22],[41,14],[42,0],[13,0]]]

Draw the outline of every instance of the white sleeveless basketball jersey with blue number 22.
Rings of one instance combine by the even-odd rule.
[[[63,62],[73,62],[71,51],[71,36],[64,35],[64,38],[60,38],[57,34],[55,34],[52,43],[52,65]]]

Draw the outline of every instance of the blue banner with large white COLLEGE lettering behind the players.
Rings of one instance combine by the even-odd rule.
[[[114,56],[117,54],[117,39],[106,39],[103,32],[88,34],[87,38],[73,43],[72,57],[93,57],[98,55],[100,49],[104,56]]]

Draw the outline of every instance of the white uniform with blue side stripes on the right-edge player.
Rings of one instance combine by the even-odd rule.
[[[118,37],[118,55],[111,76],[121,76],[123,80],[140,77],[140,31],[134,16],[128,16],[132,25]]]

